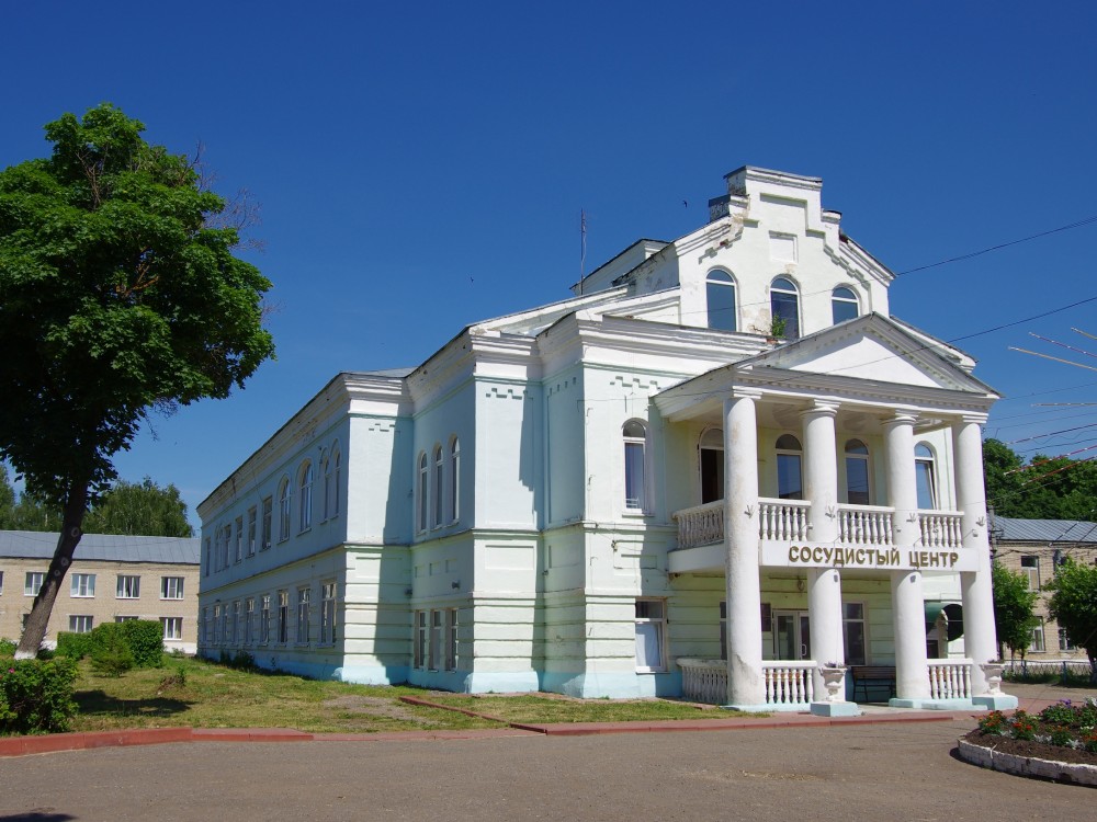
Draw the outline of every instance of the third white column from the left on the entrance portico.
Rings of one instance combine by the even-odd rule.
[[[913,414],[898,412],[884,422],[887,441],[887,492],[895,509],[894,539],[901,555],[921,538],[915,484]],[[898,699],[929,698],[926,662],[926,604],[920,571],[892,571],[895,628],[895,694]]]

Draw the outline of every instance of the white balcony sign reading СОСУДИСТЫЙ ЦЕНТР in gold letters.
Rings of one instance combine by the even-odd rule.
[[[762,540],[761,563],[777,568],[850,568],[880,571],[974,571],[971,550],[848,548]]]

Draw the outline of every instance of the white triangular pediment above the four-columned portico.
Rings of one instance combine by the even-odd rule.
[[[739,367],[779,368],[917,388],[980,393],[991,390],[960,367],[954,349],[941,342],[928,343],[928,339],[915,336],[880,315],[867,315],[780,345]]]

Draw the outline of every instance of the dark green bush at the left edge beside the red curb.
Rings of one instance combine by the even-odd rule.
[[[76,662],[12,660],[0,669],[0,733],[67,731],[76,713]]]

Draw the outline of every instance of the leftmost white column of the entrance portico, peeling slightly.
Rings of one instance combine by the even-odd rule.
[[[727,701],[766,701],[758,562],[758,423],[755,398],[724,400],[724,548],[727,585]]]

